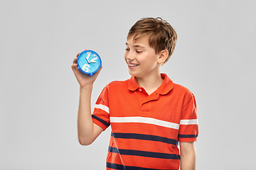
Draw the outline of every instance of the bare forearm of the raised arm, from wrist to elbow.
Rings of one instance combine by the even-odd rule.
[[[92,85],[80,88],[78,107],[78,139],[81,145],[90,145],[93,135],[91,113]]]

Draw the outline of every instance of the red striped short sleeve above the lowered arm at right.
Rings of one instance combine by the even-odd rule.
[[[198,118],[196,113],[196,99],[191,96],[185,103],[181,113],[178,142],[196,142],[198,137]]]

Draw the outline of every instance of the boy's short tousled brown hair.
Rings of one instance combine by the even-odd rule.
[[[127,35],[127,39],[134,36],[133,40],[138,40],[144,35],[149,36],[149,45],[154,48],[156,54],[161,50],[168,50],[169,55],[166,57],[166,63],[174,53],[177,34],[171,25],[158,18],[142,18],[132,26]]]

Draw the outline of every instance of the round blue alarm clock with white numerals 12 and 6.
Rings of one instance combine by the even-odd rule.
[[[85,50],[78,55],[78,69],[84,74],[92,76],[101,67],[100,55],[92,50]]]

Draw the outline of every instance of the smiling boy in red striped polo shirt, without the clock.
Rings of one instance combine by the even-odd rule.
[[[195,97],[160,73],[174,52],[176,38],[161,18],[137,21],[127,35],[124,54],[132,77],[105,86],[92,115],[92,85],[100,71],[84,75],[76,69],[77,58],[73,60],[80,84],[79,142],[90,145],[111,125],[107,169],[179,169],[180,164],[181,170],[196,169]]]

